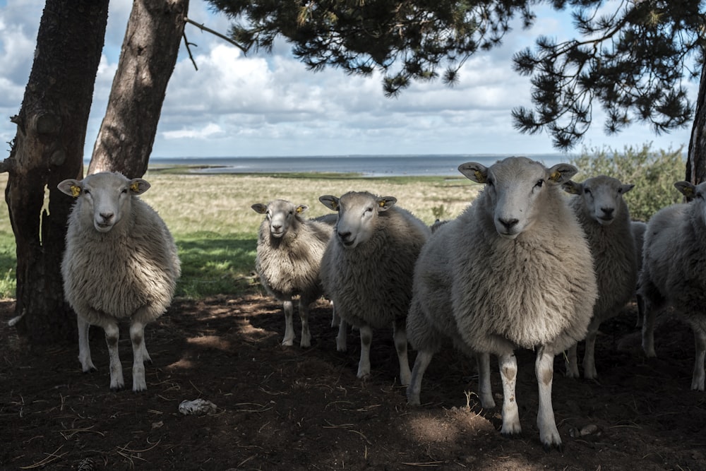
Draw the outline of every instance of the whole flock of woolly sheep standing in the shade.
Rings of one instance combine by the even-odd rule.
[[[424,374],[443,367],[435,354],[455,348],[477,365],[481,407],[493,409],[502,398],[505,436],[522,432],[525,392],[515,390],[515,352],[532,350],[539,442],[561,449],[552,383],[598,377],[594,344],[605,333],[599,328],[634,299],[645,357],[658,353],[657,314],[673,307],[695,338],[691,388],[705,389],[706,183],[676,182],[688,202],[639,222],[630,219],[624,198],[630,182],[607,175],[580,181],[580,169],[567,163],[547,167],[508,157],[458,169],[480,191],[460,215],[431,226],[404,201],[365,189],[320,196],[333,213],[317,218],[304,216],[308,201],[269,196],[251,205],[263,216],[253,268],[264,291],[282,304],[283,348],[315,349],[316,338],[332,335],[346,355],[347,333],[357,331],[357,381],[365,382],[373,329],[391,328],[399,370],[390,381],[403,388],[410,409],[438,407],[424,403]],[[147,389],[145,326],[167,311],[181,274],[169,229],[138,197],[149,188],[116,173],[59,184],[76,199],[61,273],[77,314],[78,359],[84,372],[95,369],[88,329],[103,328],[112,390],[124,388],[117,349],[123,321],[133,391]],[[319,299],[330,302],[332,330],[310,332],[309,312]],[[294,347],[297,302],[301,331]],[[585,345],[582,364],[579,345]],[[554,375],[558,356],[566,360],[562,378]],[[501,384],[495,394],[492,364]]]

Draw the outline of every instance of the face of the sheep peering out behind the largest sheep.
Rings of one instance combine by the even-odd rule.
[[[583,198],[583,205],[588,215],[600,225],[610,225],[621,210],[623,195],[635,185],[623,184],[620,180],[599,175],[576,183],[567,181],[562,185],[564,191]]]

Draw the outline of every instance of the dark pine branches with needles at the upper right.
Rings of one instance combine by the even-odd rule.
[[[698,78],[706,47],[706,6],[699,0],[555,0],[574,8],[581,40],[539,37],[515,54],[515,70],[531,76],[533,109],[513,109],[515,128],[546,130],[554,146],[573,148],[592,121],[594,100],[604,130],[635,121],[659,133],[691,124],[685,81]]]

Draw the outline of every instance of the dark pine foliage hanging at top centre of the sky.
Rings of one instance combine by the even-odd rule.
[[[386,96],[412,81],[453,85],[469,56],[501,43],[510,20],[534,20],[522,0],[208,0],[234,20],[232,40],[270,50],[279,35],[314,71],[383,73]]]

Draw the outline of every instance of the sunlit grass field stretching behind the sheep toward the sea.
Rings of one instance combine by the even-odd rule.
[[[371,191],[395,196],[397,204],[431,224],[457,216],[479,185],[462,177],[370,178],[342,174],[195,174],[188,168],[150,169],[152,188],[143,194],[167,222],[179,246],[182,275],[177,296],[199,299],[259,290],[253,282],[256,239],[262,215],[253,203],[276,198],[309,205],[315,217],[330,213],[324,194]],[[0,181],[4,186],[6,176]],[[13,297],[15,240],[6,207],[0,219],[0,297]]]

